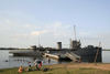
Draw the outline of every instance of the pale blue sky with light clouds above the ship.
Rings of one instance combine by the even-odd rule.
[[[0,0],[0,47],[69,47],[69,39],[110,49],[110,0]]]

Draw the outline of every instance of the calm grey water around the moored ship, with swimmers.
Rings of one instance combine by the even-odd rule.
[[[110,51],[102,51],[102,63],[110,63],[109,56],[110,56]],[[67,63],[72,61],[57,61],[51,59],[51,62],[48,63],[46,57],[41,57],[41,56],[13,56],[12,54],[9,54],[9,50],[0,50],[0,68],[8,68],[8,67],[19,67],[20,65],[28,66],[29,63],[32,66],[34,66],[34,59],[43,61],[43,65],[51,65],[51,64],[59,64],[59,63]],[[86,57],[87,59],[87,57]],[[84,59],[84,61],[87,61]],[[91,57],[88,57],[91,59]],[[94,59],[94,57],[92,57]]]

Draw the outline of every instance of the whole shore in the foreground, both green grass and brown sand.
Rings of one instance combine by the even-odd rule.
[[[53,64],[43,65],[44,68],[48,68],[47,72],[32,71],[23,72],[22,74],[110,74],[110,63],[66,63],[66,64]],[[24,70],[26,67],[23,67]],[[32,66],[35,68],[35,66]],[[0,68],[0,74],[18,74],[19,67]]]

